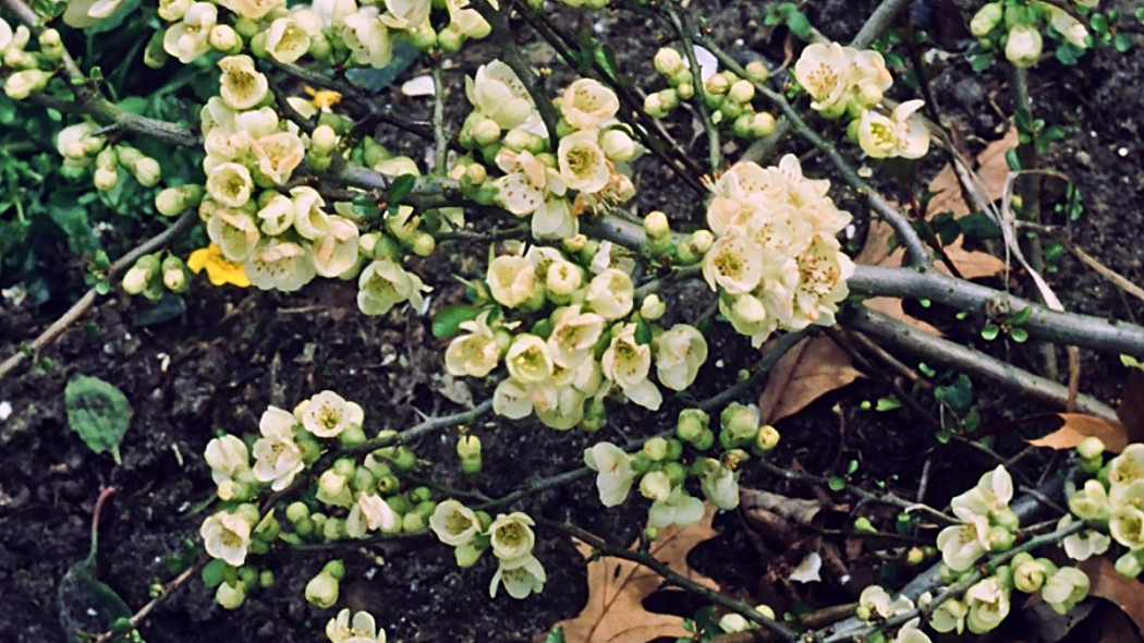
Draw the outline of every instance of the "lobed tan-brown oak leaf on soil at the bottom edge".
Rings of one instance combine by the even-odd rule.
[[[718,589],[714,580],[688,566],[688,551],[718,534],[712,529],[714,517],[715,508],[708,505],[698,523],[661,529],[649,551],[672,571]],[[575,547],[586,558],[593,556],[587,543],[577,540]],[[664,579],[648,567],[601,557],[588,563],[588,604],[575,618],[556,626],[564,628],[569,643],[646,643],[660,636],[688,636],[682,617],[649,612],[643,606],[643,601],[662,585]]]

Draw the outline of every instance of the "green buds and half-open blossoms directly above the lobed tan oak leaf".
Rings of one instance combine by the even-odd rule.
[[[690,494],[688,479],[720,509],[739,506],[739,469],[752,454],[764,455],[778,445],[774,427],[760,427],[758,408],[731,404],[720,414],[721,454],[707,455],[715,447],[709,415],[699,408],[680,412],[675,436],[652,437],[629,454],[619,446],[602,442],[583,453],[588,468],[596,471],[596,490],[605,507],[627,500],[639,481],[639,493],[651,500],[649,537],[670,524],[688,525],[704,515],[702,502]],[[690,447],[690,450],[689,450]]]

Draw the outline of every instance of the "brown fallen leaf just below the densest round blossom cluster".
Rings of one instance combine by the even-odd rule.
[[[860,376],[847,351],[829,338],[803,340],[771,370],[758,397],[760,419],[763,424],[773,424]]]

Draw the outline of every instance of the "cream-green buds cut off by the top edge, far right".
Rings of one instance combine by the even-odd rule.
[[[1078,10],[1095,9],[1099,0],[1071,1]],[[1004,57],[1018,68],[1036,64],[1044,49],[1041,30],[1075,47],[1088,49],[1093,40],[1083,23],[1065,9],[1049,2],[1003,0],[987,2],[969,22],[969,31],[980,39],[986,49],[1004,49]]]

